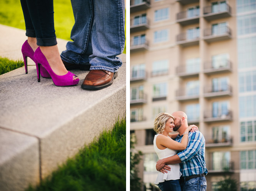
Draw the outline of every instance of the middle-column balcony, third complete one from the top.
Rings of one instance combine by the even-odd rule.
[[[176,73],[181,78],[198,77],[199,70],[200,70],[199,64],[195,64],[193,67],[192,66],[188,67],[185,65],[176,67]]]

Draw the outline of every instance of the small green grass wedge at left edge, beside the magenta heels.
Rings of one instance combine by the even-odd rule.
[[[24,62],[21,60],[13,61],[7,58],[0,57],[0,75],[20,68],[22,66],[24,66]]]

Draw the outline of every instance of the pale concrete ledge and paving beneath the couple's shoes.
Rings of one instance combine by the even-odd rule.
[[[22,60],[25,31],[4,25],[0,31],[0,56]],[[60,52],[65,50],[67,41],[57,41]],[[37,184],[118,117],[125,117],[126,55],[119,57],[123,65],[113,85],[97,91],[81,89],[88,71],[71,71],[80,78],[74,87],[57,87],[46,78],[38,83],[30,59],[28,74],[22,67],[0,75],[1,190]]]

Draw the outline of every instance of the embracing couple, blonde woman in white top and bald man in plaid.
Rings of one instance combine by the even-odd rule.
[[[161,191],[206,191],[205,139],[198,127],[188,126],[187,115],[176,111],[159,113],[154,131],[154,149],[160,159],[155,184]],[[169,134],[173,131],[178,133]]]

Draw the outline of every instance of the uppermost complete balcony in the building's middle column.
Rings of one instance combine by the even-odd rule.
[[[182,11],[177,13],[176,22],[185,26],[188,24],[196,24],[199,23],[199,10],[194,10],[193,13],[189,13],[188,11]]]

